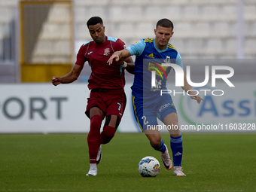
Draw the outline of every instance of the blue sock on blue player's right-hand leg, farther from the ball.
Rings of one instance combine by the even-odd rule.
[[[171,148],[172,148],[173,166],[181,166],[181,159],[182,159],[182,153],[183,153],[182,136],[178,136],[178,137],[171,136]]]

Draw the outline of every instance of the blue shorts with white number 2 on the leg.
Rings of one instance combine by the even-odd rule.
[[[169,94],[148,100],[133,96],[133,111],[143,132],[151,126],[157,126],[157,118],[163,122],[168,114],[176,113],[175,105]]]

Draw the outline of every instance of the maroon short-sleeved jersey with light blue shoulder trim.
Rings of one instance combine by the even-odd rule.
[[[124,43],[119,38],[107,37],[104,44],[95,44],[89,41],[80,47],[77,55],[76,65],[82,66],[88,61],[92,73],[88,80],[89,89],[105,88],[120,89],[124,87],[124,69],[113,63],[108,65],[109,57],[117,50],[123,50]]]

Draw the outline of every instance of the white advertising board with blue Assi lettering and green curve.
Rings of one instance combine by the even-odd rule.
[[[204,99],[197,104],[181,88],[172,87],[172,99],[178,111],[181,132],[256,133],[256,86],[254,82],[221,83],[194,88]]]

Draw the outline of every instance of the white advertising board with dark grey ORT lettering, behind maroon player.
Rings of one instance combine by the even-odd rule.
[[[1,84],[0,133],[88,133],[87,84]],[[127,88],[130,94],[130,88]],[[130,96],[127,96],[130,98]],[[129,99],[127,99],[129,100]],[[137,132],[128,101],[120,132]]]

